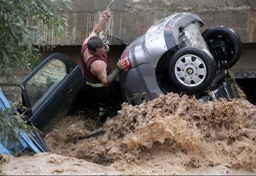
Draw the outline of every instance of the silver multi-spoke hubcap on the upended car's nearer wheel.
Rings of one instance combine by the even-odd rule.
[[[186,54],[175,63],[175,76],[184,86],[195,87],[202,84],[206,73],[204,61],[193,54]]]

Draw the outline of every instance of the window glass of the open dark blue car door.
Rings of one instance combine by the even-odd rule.
[[[52,59],[31,77],[26,83],[26,92],[32,112],[67,74],[67,65],[61,60]]]

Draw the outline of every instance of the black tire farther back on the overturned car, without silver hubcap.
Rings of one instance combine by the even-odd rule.
[[[240,60],[242,42],[233,29],[225,26],[212,26],[206,29],[202,36],[216,62],[225,60],[230,68]]]

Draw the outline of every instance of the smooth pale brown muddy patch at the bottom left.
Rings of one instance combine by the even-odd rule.
[[[74,157],[42,153],[33,157],[8,157],[6,175],[118,175],[113,168]]]

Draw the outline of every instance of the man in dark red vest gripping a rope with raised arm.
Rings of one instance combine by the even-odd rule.
[[[104,10],[92,33],[84,40],[81,49],[81,63],[86,77],[86,86],[95,98],[99,99],[99,102],[104,102],[111,91],[109,85],[114,81],[118,72],[125,67],[125,62],[120,60],[116,63],[115,70],[111,72],[104,43],[98,36],[109,17],[110,11]],[[105,120],[106,118],[102,119],[102,122]]]

